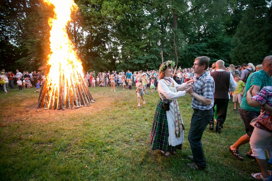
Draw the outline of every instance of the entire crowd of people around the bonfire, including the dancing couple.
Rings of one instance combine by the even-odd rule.
[[[260,165],[260,173],[252,173],[257,180],[267,180],[271,177],[265,157],[272,157],[272,56],[264,58],[262,64],[254,66],[252,63],[240,66],[229,65],[225,67],[223,60],[218,60],[209,68],[208,57],[197,57],[192,68],[174,68],[173,61],[161,64],[159,70],[146,70],[131,72],[108,71],[87,72],[84,74],[86,86],[115,87],[132,89],[135,86],[137,107],[140,100],[145,104],[144,94],[159,93],[150,134],[152,150],[159,150],[164,156],[173,156],[177,149],[181,150],[184,141],[184,125],[178,98],[186,93],[192,97],[192,120],[188,133],[193,162],[187,166],[202,170],[206,167],[205,156],[202,148],[201,137],[207,125],[209,130],[216,133],[223,131],[223,124],[227,117],[229,100],[234,102],[233,111],[240,114],[245,125],[246,134],[242,135],[229,147],[231,154],[239,159],[244,157],[239,152],[239,147],[250,143],[251,150],[246,154],[254,158]],[[19,91],[36,87],[34,92],[39,92],[39,87],[45,81],[45,75],[34,71],[16,73],[2,70],[0,76],[1,89],[8,93],[17,85]],[[149,89],[149,90],[148,90]],[[149,92],[149,93],[148,93]],[[239,103],[239,105],[238,105]]]

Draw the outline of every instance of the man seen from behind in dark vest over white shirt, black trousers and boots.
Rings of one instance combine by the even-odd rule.
[[[217,105],[217,122],[216,129],[217,133],[221,133],[223,124],[227,117],[227,109],[229,105],[229,91],[235,91],[237,83],[234,81],[233,76],[230,72],[223,70],[225,62],[218,60],[215,63],[215,70],[211,73],[214,78],[215,91],[214,91],[214,106]],[[214,107],[213,107],[214,111]],[[210,120],[209,130],[214,130],[214,120]]]

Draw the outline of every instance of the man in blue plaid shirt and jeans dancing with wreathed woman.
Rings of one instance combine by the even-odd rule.
[[[189,156],[193,163],[187,166],[201,170],[205,169],[206,161],[201,143],[202,134],[213,117],[212,107],[214,105],[214,79],[206,71],[209,66],[209,57],[196,57],[194,59],[194,72],[198,75],[194,85],[188,84],[186,91],[193,97],[191,127],[188,133],[188,141],[191,146],[193,156]]]

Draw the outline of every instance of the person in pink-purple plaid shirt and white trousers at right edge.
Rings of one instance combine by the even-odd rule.
[[[255,122],[253,133],[250,137],[252,156],[256,158],[261,173],[252,173],[257,180],[267,180],[271,172],[267,170],[267,163],[264,149],[267,149],[268,157],[272,157],[272,86],[263,87],[255,96],[251,95],[254,85],[247,91],[247,103],[251,107],[262,106],[261,115]]]

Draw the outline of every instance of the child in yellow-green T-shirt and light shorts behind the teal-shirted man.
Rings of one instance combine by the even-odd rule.
[[[243,81],[240,81],[240,76],[238,74],[234,74],[234,80],[235,82],[237,82],[237,88],[236,90],[233,92],[233,98],[232,98],[232,102],[234,102],[234,111],[237,108],[237,99],[239,104],[241,105],[242,102],[242,97],[244,95],[245,89],[243,89],[243,87],[245,87],[245,83]],[[239,113],[239,111],[237,111],[236,113]]]

